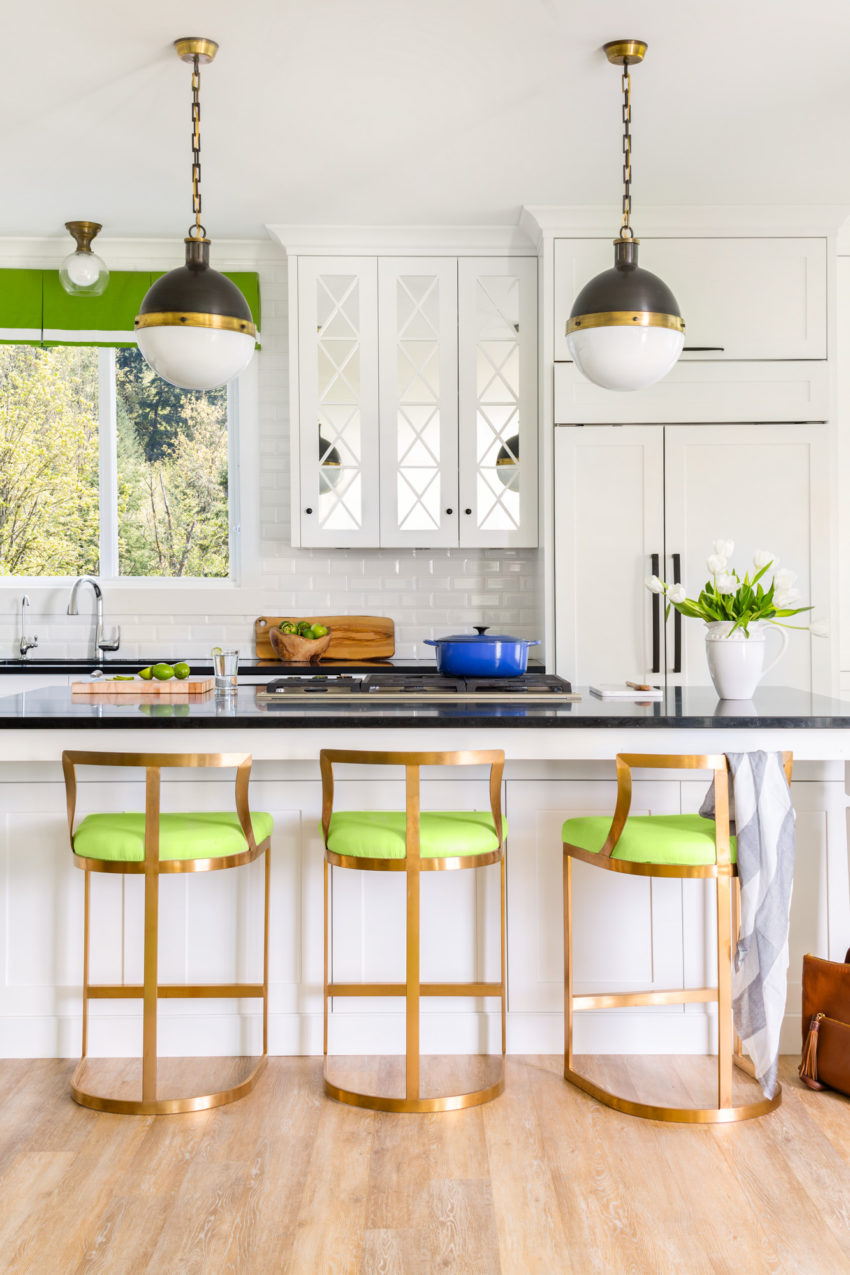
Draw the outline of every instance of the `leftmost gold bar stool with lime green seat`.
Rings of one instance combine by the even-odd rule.
[[[135,766],[145,773],[144,813],[87,815],[74,830],[76,766]],[[162,815],[161,775],[169,766],[236,768],[236,810]],[[251,756],[233,754],[171,752],[62,752],[68,798],[68,829],[78,868],[85,872],[83,936],[83,1051],[71,1077],[71,1096],[96,1111],[135,1116],[166,1116],[204,1111],[243,1098],[256,1084],[269,1049],[269,845],[270,815],[249,808]],[[172,872],[215,872],[236,868],[265,854],[263,922],[263,982],[260,983],[159,983],[159,877]],[[90,983],[90,882],[92,872],[144,876],[144,982]],[[194,1098],[159,1098],[157,1093],[157,1003],[177,997],[259,997],[263,1000],[263,1054],[249,1076],[231,1089]],[[88,1053],[89,1000],[143,1001],[141,1098],[110,1098],[82,1085]]]

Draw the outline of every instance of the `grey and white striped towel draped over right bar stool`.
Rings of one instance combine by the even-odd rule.
[[[781,752],[728,752],[726,760],[731,771],[740,881],[731,1009],[735,1031],[752,1058],[762,1091],[772,1098],[788,992],[794,807]],[[714,790],[711,798],[714,806]],[[709,810],[700,813],[709,815]]]

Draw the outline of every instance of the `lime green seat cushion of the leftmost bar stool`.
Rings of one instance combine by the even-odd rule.
[[[254,838],[264,841],[274,820],[264,811],[251,815]],[[161,859],[217,859],[242,854],[249,843],[234,811],[203,811],[191,815],[159,816]],[[74,853],[87,859],[119,859],[138,863],[144,859],[144,815],[87,815],[74,834]]]

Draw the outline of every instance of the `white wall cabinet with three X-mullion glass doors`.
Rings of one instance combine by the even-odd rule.
[[[294,269],[294,543],[535,546],[537,259]]]

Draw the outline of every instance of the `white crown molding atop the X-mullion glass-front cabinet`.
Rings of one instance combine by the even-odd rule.
[[[537,256],[521,226],[266,226],[289,256]]]

